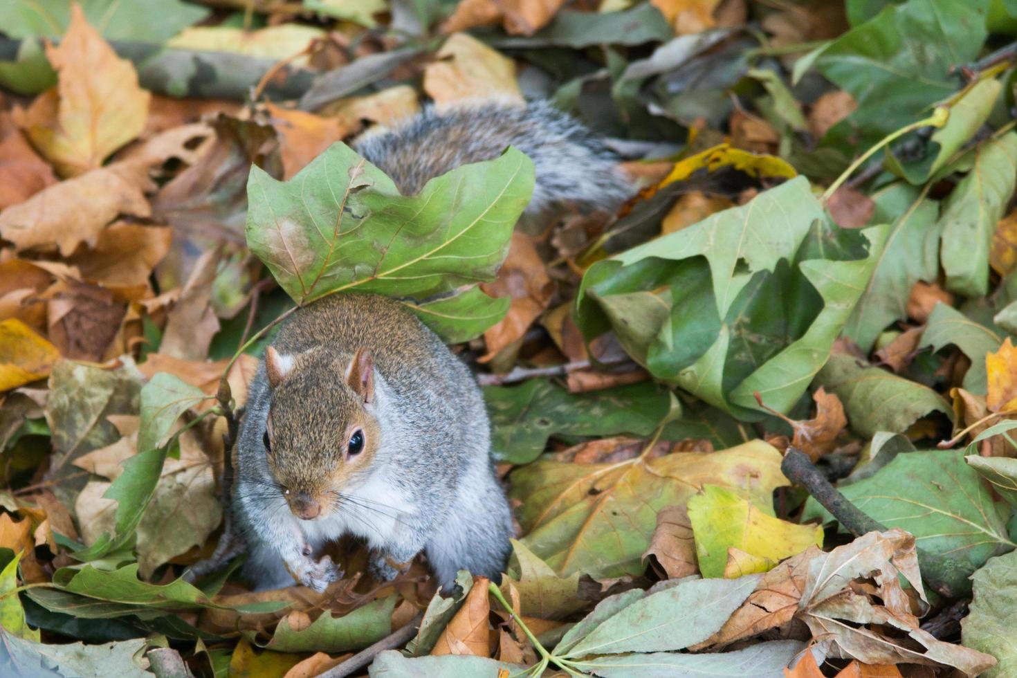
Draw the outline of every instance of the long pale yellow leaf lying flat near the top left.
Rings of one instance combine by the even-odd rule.
[[[320,28],[283,23],[258,30],[222,26],[192,26],[167,43],[168,47],[198,52],[230,52],[265,59],[289,59],[307,49],[312,40],[324,38]],[[307,63],[306,57],[294,59],[297,65]]]

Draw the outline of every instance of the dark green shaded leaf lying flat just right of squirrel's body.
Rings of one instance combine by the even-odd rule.
[[[670,411],[667,390],[651,382],[573,394],[549,379],[531,379],[520,386],[487,386],[484,399],[494,455],[512,464],[537,458],[556,433],[649,435]]]

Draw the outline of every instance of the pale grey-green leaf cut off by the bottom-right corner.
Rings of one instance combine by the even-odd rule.
[[[1017,636],[1013,633],[1017,553],[991,558],[971,578],[974,600],[961,620],[961,640],[964,646],[992,655],[999,662],[982,673],[982,678],[1007,678],[1017,673]]]

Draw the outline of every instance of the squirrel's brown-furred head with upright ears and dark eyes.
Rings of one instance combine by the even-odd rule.
[[[366,349],[337,358],[313,349],[283,355],[268,347],[264,363],[272,391],[262,437],[268,470],[294,515],[323,517],[377,452],[374,359]]]

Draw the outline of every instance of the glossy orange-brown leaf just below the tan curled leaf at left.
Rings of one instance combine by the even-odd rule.
[[[99,232],[96,246],[69,259],[81,276],[107,288],[148,289],[148,276],[170,249],[172,229],[118,222]],[[148,295],[144,295],[148,296]]]

